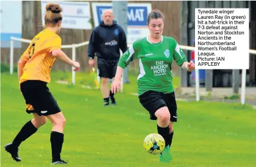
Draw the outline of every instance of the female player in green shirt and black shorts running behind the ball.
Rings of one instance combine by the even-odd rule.
[[[160,154],[160,162],[170,162],[170,147],[173,137],[173,123],[177,122],[177,104],[172,85],[172,60],[187,71],[193,71],[194,63],[187,57],[172,37],[163,33],[164,16],[160,10],[152,10],[148,15],[148,37],[132,43],[118,62],[112,92],[121,88],[123,69],[135,59],[139,59],[140,75],[137,79],[138,95],[141,105],[157,120],[157,131],[165,139],[165,149]]]

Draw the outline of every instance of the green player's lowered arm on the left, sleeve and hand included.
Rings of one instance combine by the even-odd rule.
[[[119,59],[118,66],[116,69],[116,76],[111,87],[112,93],[116,93],[116,91],[119,92],[121,88],[121,77],[122,77],[124,68],[126,68],[129,65],[129,63],[135,59],[138,59],[138,54],[137,54],[137,49],[135,49],[135,44],[133,43],[129,47],[129,49],[127,49],[127,51],[124,52],[123,55],[121,55]]]

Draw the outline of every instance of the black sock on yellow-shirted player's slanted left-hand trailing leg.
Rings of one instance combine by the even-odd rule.
[[[32,124],[31,121],[28,121],[24,126],[21,128],[20,132],[14,138],[12,144],[15,147],[19,147],[21,142],[25,141],[31,135],[37,132],[37,128]]]

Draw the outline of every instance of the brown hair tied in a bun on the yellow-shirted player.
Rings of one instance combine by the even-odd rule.
[[[44,15],[44,23],[46,26],[55,26],[62,21],[62,7],[59,4],[49,3],[46,5],[46,13]]]

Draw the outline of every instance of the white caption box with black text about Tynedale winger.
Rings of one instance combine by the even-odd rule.
[[[196,69],[249,69],[249,9],[195,10]]]

